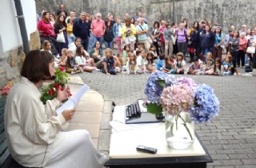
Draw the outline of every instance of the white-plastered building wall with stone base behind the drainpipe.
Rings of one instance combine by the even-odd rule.
[[[22,10],[29,36],[30,50],[40,49],[35,2],[22,0]],[[16,16],[14,1],[1,0],[0,22],[4,22],[5,26],[0,28],[0,90],[3,86],[12,86],[20,80],[20,71],[26,57]]]

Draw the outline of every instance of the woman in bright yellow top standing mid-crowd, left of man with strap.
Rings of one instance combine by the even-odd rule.
[[[126,18],[126,22],[122,26],[122,42],[125,42],[132,51],[134,51],[134,43],[136,42],[135,34],[136,28],[134,24],[130,23],[130,18]]]

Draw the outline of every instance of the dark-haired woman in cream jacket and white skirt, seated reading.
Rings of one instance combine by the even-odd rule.
[[[102,167],[105,155],[95,149],[86,130],[62,132],[73,110],[57,115],[55,110],[70,94],[58,90],[58,97],[43,105],[39,88],[54,76],[54,57],[49,52],[32,50],[22,66],[21,81],[6,100],[5,128],[12,157],[28,167]]]

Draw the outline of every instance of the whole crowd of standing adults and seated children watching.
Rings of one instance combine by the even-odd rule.
[[[57,14],[55,19],[54,13],[42,11],[38,30],[42,42],[48,38],[43,44],[48,42],[52,46],[46,49],[42,45],[42,50],[55,48],[58,51],[55,65],[64,66],[71,74],[93,70],[106,74],[142,74],[163,70],[170,74],[220,75],[238,74],[237,67],[252,66],[254,52],[246,50],[256,46],[256,28],[246,29],[246,25],[241,30],[230,26],[224,35],[219,24],[202,21],[190,25],[186,18],[172,24],[156,21],[149,28],[140,12],[136,17],[126,14],[115,20],[109,14],[104,21],[100,13],[82,12],[76,18],[71,10],[67,15],[62,4]],[[59,34],[64,35],[65,42],[50,42]],[[114,45],[117,54],[112,51]],[[224,50],[226,58],[222,54]]]

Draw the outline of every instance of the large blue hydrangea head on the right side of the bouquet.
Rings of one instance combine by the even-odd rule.
[[[214,90],[206,84],[198,85],[194,90],[194,106],[190,109],[190,117],[196,123],[209,122],[218,115],[219,101]]]

